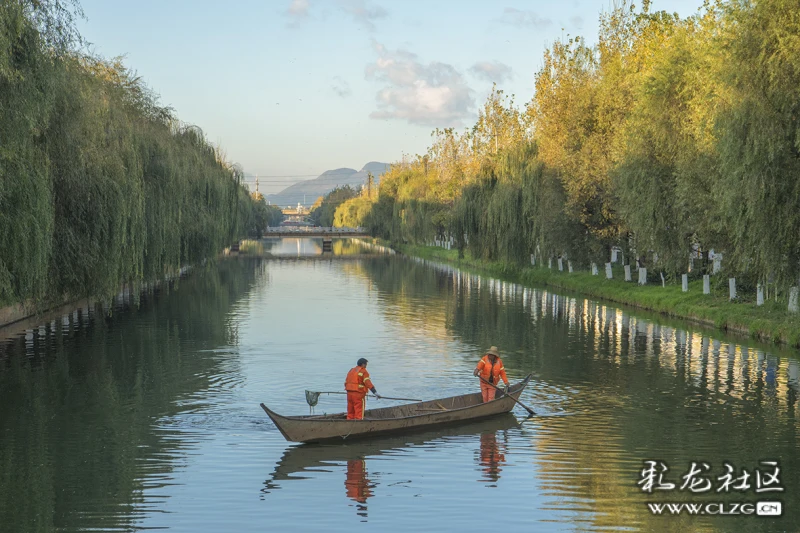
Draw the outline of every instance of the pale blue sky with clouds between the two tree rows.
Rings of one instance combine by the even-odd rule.
[[[597,36],[610,0],[83,0],[91,50],[125,55],[273,193],[325,170],[424,153],[472,125],[492,81],[523,105],[545,48]],[[655,0],[688,16],[702,0]]]

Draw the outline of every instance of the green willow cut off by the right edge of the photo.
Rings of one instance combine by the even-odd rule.
[[[800,277],[800,10],[793,0],[731,2],[718,120],[721,216],[738,270]]]

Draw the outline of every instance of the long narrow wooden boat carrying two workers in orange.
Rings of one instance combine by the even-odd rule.
[[[529,374],[519,383],[511,385],[508,395],[498,392],[497,397],[491,402],[484,403],[481,393],[475,392],[438,400],[369,409],[364,412],[363,420],[347,420],[346,413],[281,416],[263,403],[261,408],[266,411],[288,441],[360,439],[432,429],[507,413],[516,405],[513,398],[519,398],[530,379]]]

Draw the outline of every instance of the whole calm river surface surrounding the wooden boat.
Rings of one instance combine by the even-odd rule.
[[[308,446],[258,407],[308,413],[304,391],[341,390],[362,355],[382,394],[462,394],[492,344],[512,379],[535,373],[539,416]],[[423,261],[230,260],[51,318],[0,362],[11,531],[798,530],[794,352]],[[691,461],[770,458],[779,519],[653,517],[716,500],[637,487],[648,459],[680,483]]]

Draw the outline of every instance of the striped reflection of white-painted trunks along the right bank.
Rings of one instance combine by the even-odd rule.
[[[547,346],[554,353],[566,341],[617,366],[644,361],[648,367],[684,375],[726,396],[774,398],[784,412],[793,412],[800,387],[798,360],[792,350],[757,343],[748,346],[713,330],[687,329],[685,324],[652,313],[630,316],[592,300],[484,278],[423,259],[409,262],[420,268],[399,274],[404,268],[398,262],[377,262],[355,265],[353,270],[360,271],[387,299],[403,300],[396,303],[409,306],[408,313],[422,307],[423,313],[431,315],[426,320],[443,325],[440,334],[452,331],[476,349],[502,344],[501,350],[520,363],[529,358],[532,348]],[[446,296],[447,301],[426,305],[422,300],[430,293]],[[492,323],[486,324],[487,319]],[[545,324],[547,329],[543,329]]]

